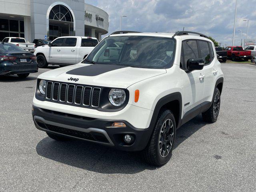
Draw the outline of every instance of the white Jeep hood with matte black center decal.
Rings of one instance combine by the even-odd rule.
[[[91,86],[128,88],[136,82],[165,73],[165,69],[79,63],[50,70],[40,74],[38,78]]]

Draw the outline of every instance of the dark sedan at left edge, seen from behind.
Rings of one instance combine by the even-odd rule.
[[[26,78],[38,72],[36,56],[10,43],[0,42],[0,76],[17,74]]]

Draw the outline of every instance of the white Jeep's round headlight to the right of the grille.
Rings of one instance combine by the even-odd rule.
[[[126,94],[122,89],[111,89],[108,94],[108,99],[110,103],[114,106],[121,106],[124,104]]]

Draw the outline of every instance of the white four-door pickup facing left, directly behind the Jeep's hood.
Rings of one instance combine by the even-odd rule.
[[[46,68],[49,63],[66,66],[84,60],[97,44],[97,38],[92,37],[58,37],[48,45],[37,47],[34,55],[39,68]]]

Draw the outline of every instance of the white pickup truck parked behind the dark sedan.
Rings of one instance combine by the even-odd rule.
[[[12,43],[22,49],[34,53],[36,45],[34,43],[28,43],[24,38],[21,37],[6,37],[2,42]]]

